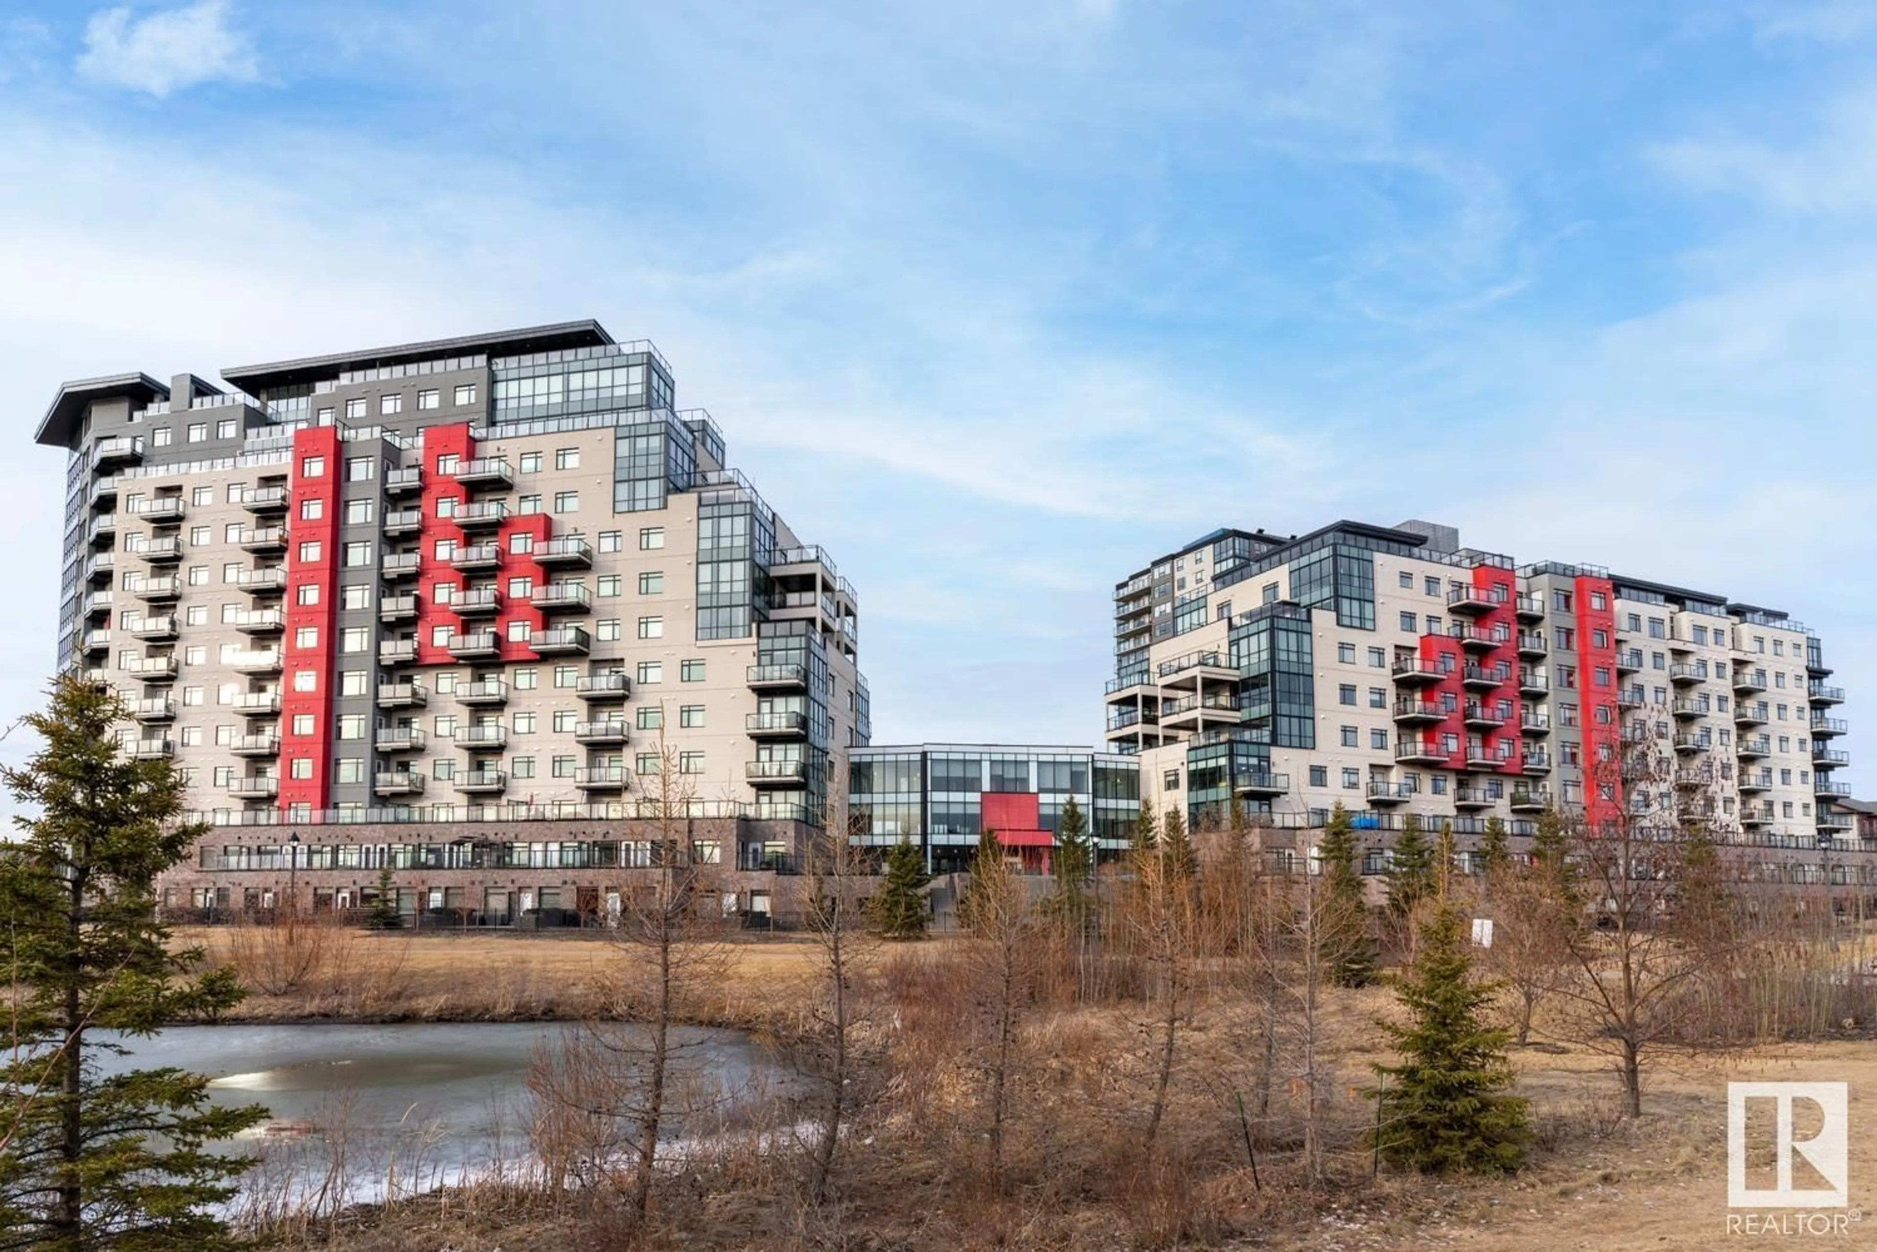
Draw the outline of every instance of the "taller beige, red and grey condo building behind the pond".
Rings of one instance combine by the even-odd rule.
[[[68,383],[38,432],[68,452],[58,659],[216,824],[191,903],[359,903],[381,863],[434,871],[413,908],[591,903],[664,770],[726,867],[794,854],[867,741],[856,595],[651,344],[582,321],[221,379]]]

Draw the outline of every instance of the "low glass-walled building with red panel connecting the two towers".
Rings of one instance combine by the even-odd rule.
[[[1098,856],[1128,847],[1141,805],[1139,760],[1085,747],[920,743],[856,747],[848,758],[848,811],[862,845],[912,839],[933,873],[970,865],[989,830],[1027,862],[1042,863],[1076,800]]]

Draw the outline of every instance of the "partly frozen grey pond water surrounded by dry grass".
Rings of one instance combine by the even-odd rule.
[[[494,1162],[527,1158],[527,1068],[565,1023],[212,1025],[118,1040],[107,1074],[176,1066],[206,1074],[223,1106],[263,1104],[268,1121],[240,1143],[268,1164],[250,1186],[332,1177],[349,1201],[428,1190]],[[685,1066],[723,1092],[773,1077],[734,1031],[683,1029]],[[334,1158],[342,1158],[330,1171]]]

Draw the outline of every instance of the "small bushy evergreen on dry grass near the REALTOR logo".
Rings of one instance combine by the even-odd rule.
[[[1421,927],[1413,965],[1389,982],[1408,1025],[1378,1023],[1402,1062],[1376,1066],[1381,1119],[1370,1147],[1423,1173],[1511,1173],[1532,1137],[1526,1100],[1505,1094],[1511,1036],[1483,1021],[1498,985],[1472,976],[1464,920],[1447,899]]]

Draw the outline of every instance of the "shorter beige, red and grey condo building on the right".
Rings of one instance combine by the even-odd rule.
[[[1556,803],[1809,863],[1854,843],[1830,672],[1783,612],[1447,526],[1222,529],[1117,584],[1107,745],[1192,820],[1235,794],[1276,826],[1342,803],[1520,833]]]

